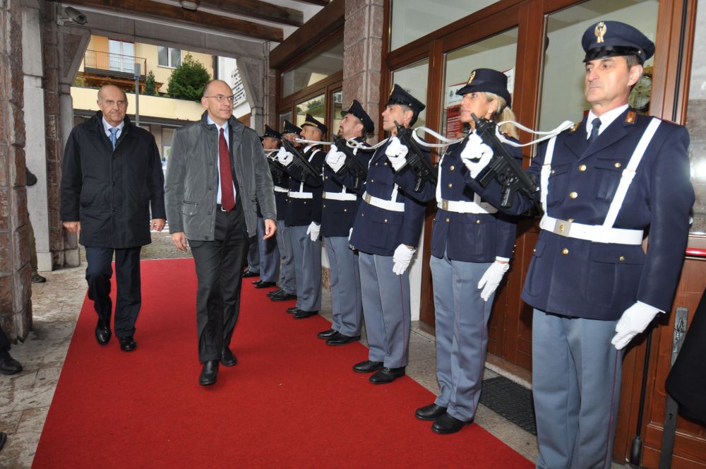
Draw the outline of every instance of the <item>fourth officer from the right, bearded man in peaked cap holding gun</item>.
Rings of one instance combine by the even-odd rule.
[[[348,110],[341,114],[343,119],[338,128],[338,135],[346,141],[354,139],[362,143],[365,134],[373,132],[373,120],[358,101],[353,100]],[[373,152],[359,151],[358,148],[352,152],[364,166],[368,166]],[[342,178],[336,172],[344,162],[345,155],[332,145],[326,155],[327,164],[323,168],[321,236],[324,239],[331,272],[333,324],[328,331],[317,334],[319,338],[326,339],[327,345],[345,345],[360,340],[363,322],[358,253],[350,249],[348,244],[350,230],[363,194],[363,184],[359,184],[355,189],[341,182]]]

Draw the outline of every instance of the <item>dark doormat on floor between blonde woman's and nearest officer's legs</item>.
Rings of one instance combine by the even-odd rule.
[[[481,404],[502,415],[526,432],[537,434],[531,389],[505,378],[505,376],[486,379],[483,381]]]

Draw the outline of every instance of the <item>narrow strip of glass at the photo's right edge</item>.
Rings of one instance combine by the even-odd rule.
[[[691,64],[691,88],[687,107],[686,127],[691,145],[691,183],[696,193],[693,208],[693,235],[706,235],[706,8],[696,11],[694,50]]]

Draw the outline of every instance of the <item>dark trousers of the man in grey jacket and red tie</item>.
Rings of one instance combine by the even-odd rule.
[[[215,239],[189,239],[196,264],[198,360],[220,360],[230,345],[240,311],[242,272],[251,241],[240,204],[230,212],[216,209]]]

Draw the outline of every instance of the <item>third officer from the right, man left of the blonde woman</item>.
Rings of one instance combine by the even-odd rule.
[[[383,129],[395,137],[395,121],[414,125],[424,105],[394,85],[385,111]],[[369,360],[355,364],[359,373],[376,372],[373,384],[385,384],[405,375],[409,355],[409,263],[417,250],[424,224],[424,204],[409,197],[397,184],[385,152],[397,138],[379,147],[370,160],[363,202],[353,225],[350,244],[359,250],[363,314]],[[423,155],[429,158],[429,155]],[[344,184],[350,184],[349,178]]]

